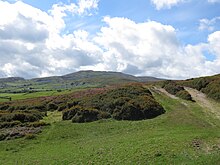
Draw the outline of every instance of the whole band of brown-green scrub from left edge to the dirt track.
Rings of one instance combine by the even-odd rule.
[[[140,84],[88,89],[50,97],[32,98],[1,104],[0,121],[38,122],[46,111],[62,111],[63,120],[90,122],[99,119],[141,120],[165,111]],[[37,112],[35,112],[37,111]]]

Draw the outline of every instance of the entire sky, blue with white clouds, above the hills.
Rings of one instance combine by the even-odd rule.
[[[220,0],[0,0],[0,77],[220,73]]]

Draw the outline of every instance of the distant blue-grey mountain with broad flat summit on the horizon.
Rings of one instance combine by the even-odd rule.
[[[28,92],[45,90],[62,90],[78,87],[103,87],[106,85],[161,81],[154,77],[135,77],[120,72],[107,71],[79,71],[63,76],[52,76],[25,80],[24,78],[11,77],[0,79],[0,92]]]

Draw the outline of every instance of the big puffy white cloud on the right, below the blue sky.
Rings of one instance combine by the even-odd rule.
[[[215,48],[218,41],[214,34],[212,35],[215,37],[209,36],[208,43],[183,46],[178,42],[175,28],[170,25],[155,21],[135,23],[127,18],[117,17],[105,17],[104,21],[107,26],[95,38],[104,47],[104,62],[95,67],[171,78],[218,72],[215,69],[218,64],[210,62],[204,55],[210,48],[215,54],[219,52]]]

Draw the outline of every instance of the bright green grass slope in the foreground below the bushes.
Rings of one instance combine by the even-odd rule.
[[[0,164],[219,164],[219,120],[196,103],[154,97],[167,112],[151,120],[73,124],[48,113],[51,126],[35,139],[0,142]]]

